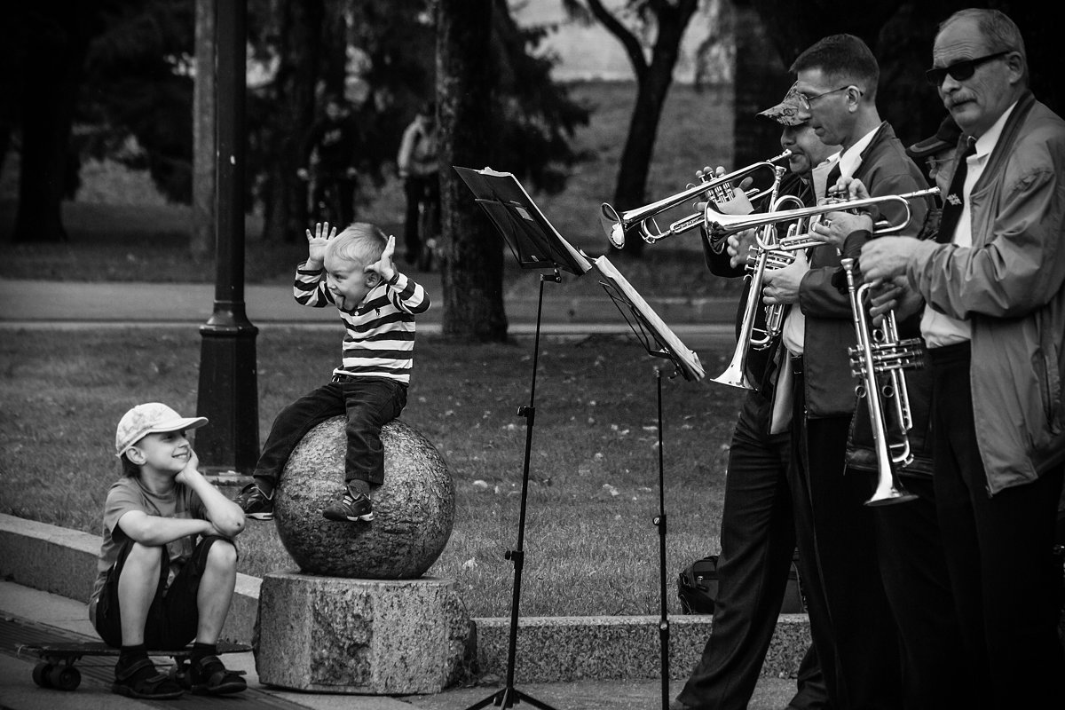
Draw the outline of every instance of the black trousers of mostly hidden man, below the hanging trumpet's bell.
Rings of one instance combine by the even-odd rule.
[[[899,628],[905,708],[976,707],[983,682],[962,651],[933,479],[902,481],[915,500],[872,510],[884,591]]]

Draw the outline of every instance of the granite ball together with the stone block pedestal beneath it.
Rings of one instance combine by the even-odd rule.
[[[345,417],[292,452],[274,495],[278,536],[299,572],[259,592],[257,663],[271,686],[329,693],[439,693],[458,679],[470,616],[454,582],[422,575],[450,536],[455,485],[440,452],[399,419],[381,428],[374,519],[322,510],[344,492]]]

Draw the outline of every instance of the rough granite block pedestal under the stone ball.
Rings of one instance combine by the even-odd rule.
[[[269,573],[259,591],[259,680],[322,693],[439,693],[473,638],[454,581]]]

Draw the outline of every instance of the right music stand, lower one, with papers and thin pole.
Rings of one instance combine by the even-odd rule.
[[[633,329],[637,340],[653,358],[670,361],[674,370],[670,377],[682,375],[686,380],[701,380],[703,370],[699,356],[685,347],[669,326],[648,306],[636,288],[621,275],[606,257],[594,262],[603,280],[603,288]],[[666,605],[666,474],[662,453],[662,380],[661,368],[655,367],[655,383],[658,391],[658,516],[654,519],[658,528],[658,594],[661,600],[661,616],[658,622],[658,638],[661,643],[662,710],[669,710],[669,614]]]

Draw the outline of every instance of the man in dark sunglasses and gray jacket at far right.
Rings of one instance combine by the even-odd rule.
[[[986,707],[1065,707],[1051,555],[1065,477],[1065,121],[994,10],[939,26],[928,72],[963,131],[940,241],[873,240],[866,279],[927,302],[934,486],[966,660]]]

